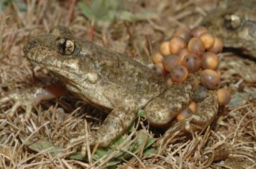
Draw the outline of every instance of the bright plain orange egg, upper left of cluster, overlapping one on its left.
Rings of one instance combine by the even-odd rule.
[[[186,42],[183,38],[180,38],[179,36],[173,37],[169,42],[169,48],[172,54],[178,54],[178,52],[182,50],[182,48],[186,48]]]

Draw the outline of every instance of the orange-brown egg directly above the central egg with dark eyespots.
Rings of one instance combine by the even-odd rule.
[[[200,40],[200,38],[191,38],[188,42],[188,52],[201,57],[201,55],[204,54],[204,51],[204,42]]]

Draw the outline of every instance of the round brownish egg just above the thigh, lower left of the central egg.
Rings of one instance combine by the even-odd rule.
[[[170,71],[173,82],[184,82],[188,77],[188,69],[183,65],[175,65]]]

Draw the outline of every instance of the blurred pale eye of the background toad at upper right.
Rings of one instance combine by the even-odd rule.
[[[227,29],[237,29],[239,26],[241,26],[241,18],[235,14],[225,15],[224,26]]]

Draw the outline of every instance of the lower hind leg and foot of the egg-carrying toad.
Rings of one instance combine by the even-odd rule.
[[[218,98],[216,91],[209,91],[207,98],[204,101],[198,103],[198,111],[192,114],[187,119],[175,123],[170,129],[168,129],[162,138],[157,141],[159,152],[163,148],[164,143],[170,136],[177,131],[189,131],[193,132],[193,129],[204,129],[211,124],[218,114]]]

